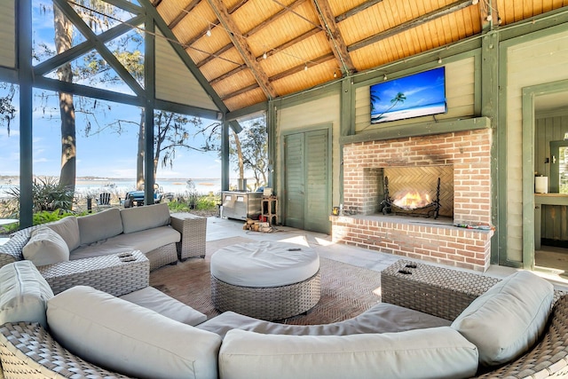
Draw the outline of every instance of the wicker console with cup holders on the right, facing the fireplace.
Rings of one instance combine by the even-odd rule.
[[[381,272],[383,303],[454,320],[500,280],[434,265],[398,260]]]

